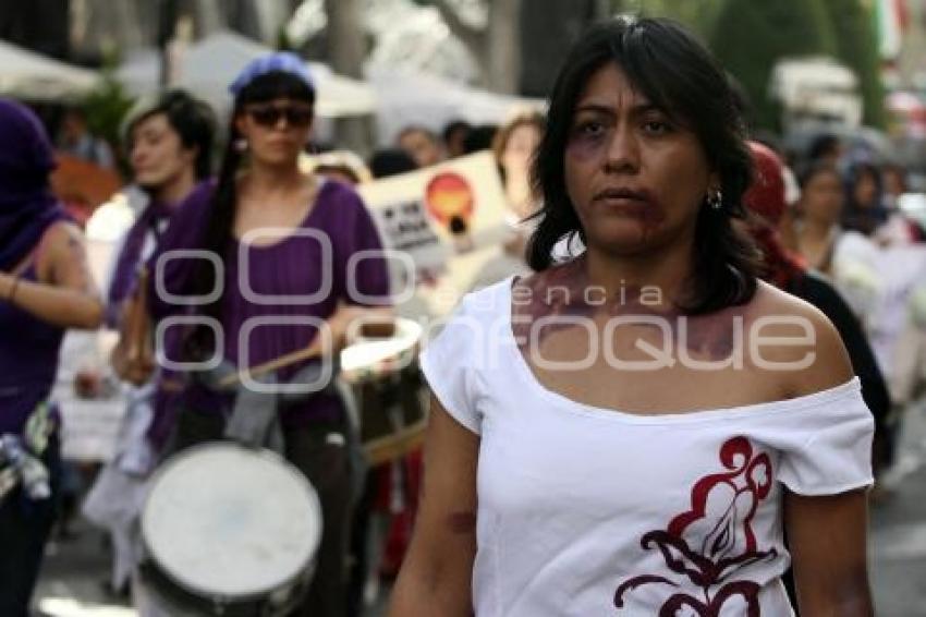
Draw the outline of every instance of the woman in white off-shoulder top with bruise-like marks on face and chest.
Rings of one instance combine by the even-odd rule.
[[[678,25],[576,44],[535,176],[537,271],[470,294],[393,617],[868,616],[873,423],[828,319],[759,282],[722,70]],[[551,265],[577,233],[587,250]],[[787,529],[790,554],[783,543]]]

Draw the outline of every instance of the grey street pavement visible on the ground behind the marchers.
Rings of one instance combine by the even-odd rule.
[[[926,403],[907,412],[887,496],[872,508],[872,583],[878,617],[926,617]],[[36,590],[42,617],[136,617],[107,595],[103,536],[78,522],[77,535],[49,545]],[[382,597],[364,617],[385,615]]]

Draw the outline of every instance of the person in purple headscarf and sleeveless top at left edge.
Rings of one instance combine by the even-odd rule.
[[[58,422],[47,399],[61,337],[97,328],[102,303],[81,231],[49,187],[45,128],[0,99],[0,472],[19,472],[11,489],[0,488],[0,615],[25,617],[59,488]],[[31,481],[23,461],[45,480]]]

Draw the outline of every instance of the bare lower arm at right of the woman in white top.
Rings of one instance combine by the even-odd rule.
[[[867,493],[788,493],[784,522],[801,617],[872,617]]]

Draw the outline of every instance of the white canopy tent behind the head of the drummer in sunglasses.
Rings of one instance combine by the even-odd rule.
[[[228,87],[255,58],[273,50],[232,32],[218,32],[182,51],[176,69],[176,86],[207,100],[226,112],[231,106]],[[337,75],[325,64],[308,63],[318,90],[316,114],[320,118],[365,116],[376,109],[373,89],[355,80]],[[160,58],[148,50],[130,58],[117,71],[118,78],[134,94],[157,89]]]

